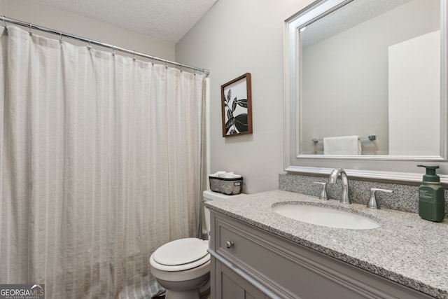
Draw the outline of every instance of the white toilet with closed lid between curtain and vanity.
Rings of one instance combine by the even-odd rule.
[[[238,195],[204,191],[204,201],[220,200]],[[210,211],[205,208],[207,232]],[[197,238],[176,239],[160,246],[149,258],[151,273],[163,286],[166,299],[199,299],[210,290],[209,241]]]

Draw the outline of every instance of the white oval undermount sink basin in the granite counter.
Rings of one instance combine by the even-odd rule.
[[[330,228],[369,230],[381,226],[377,221],[360,214],[309,204],[279,204],[272,207],[272,209],[278,214],[297,221],[328,226]]]

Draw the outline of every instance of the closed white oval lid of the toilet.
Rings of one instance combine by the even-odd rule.
[[[154,260],[162,265],[184,265],[207,256],[207,246],[197,238],[176,239],[160,246],[154,253]]]

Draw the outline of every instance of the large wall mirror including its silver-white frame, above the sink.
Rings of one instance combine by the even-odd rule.
[[[286,171],[448,174],[446,1],[320,0],[286,20]]]

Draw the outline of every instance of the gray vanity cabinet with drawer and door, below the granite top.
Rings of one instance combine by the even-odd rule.
[[[432,298],[211,211],[211,298]]]

